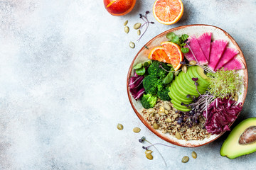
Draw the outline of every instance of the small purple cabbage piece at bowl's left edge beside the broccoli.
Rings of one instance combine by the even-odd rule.
[[[143,79],[144,76],[139,76],[136,73],[134,74],[134,77],[129,79],[129,91],[135,100],[140,98],[145,92],[145,89],[142,85]]]

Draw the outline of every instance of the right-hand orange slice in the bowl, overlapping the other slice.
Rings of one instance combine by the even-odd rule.
[[[173,42],[161,42],[161,46],[164,48],[166,55],[169,57],[170,64],[173,65],[174,70],[177,71],[181,67],[181,63],[184,59],[181,47]]]

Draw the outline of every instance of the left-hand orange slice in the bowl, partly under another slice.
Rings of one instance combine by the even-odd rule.
[[[164,51],[164,47],[161,47],[161,46],[154,47],[151,50],[151,52],[149,53],[149,57],[148,58],[150,60],[157,60],[159,62],[171,63],[170,58],[168,57],[168,55]]]

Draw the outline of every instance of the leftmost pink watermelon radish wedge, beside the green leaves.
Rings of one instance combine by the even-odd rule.
[[[188,44],[189,45],[184,46],[189,48],[189,52],[185,54],[186,59],[188,61],[195,60],[201,65],[208,64],[208,60],[206,60],[206,56],[203,54],[203,50],[201,49],[195,35],[188,38]]]

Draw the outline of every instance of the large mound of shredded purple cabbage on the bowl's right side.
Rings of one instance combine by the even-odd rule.
[[[206,118],[206,130],[212,134],[220,134],[225,130],[230,130],[228,125],[238,118],[238,113],[242,111],[242,103],[233,101],[229,96],[227,98],[215,98],[210,103],[207,111],[203,111]]]

